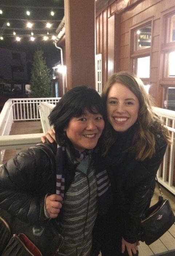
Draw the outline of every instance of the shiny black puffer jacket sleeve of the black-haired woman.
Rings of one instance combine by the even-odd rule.
[[[56,143],[48,144],[53,154]],[[21,221],[42,224],[44,197],[55,193],[56,174],[49,158],[38,147],[21,151],[0,167],[0,208]]]

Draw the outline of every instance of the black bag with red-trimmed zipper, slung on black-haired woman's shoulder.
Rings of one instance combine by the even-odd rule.
[[[55,172],[55,156],[45,144],[35,147],[45,152]],[[53,256],[63,245],[64,238],[56,219],[50,219],[43,226],[31,226],[0,208],[0,256]]]

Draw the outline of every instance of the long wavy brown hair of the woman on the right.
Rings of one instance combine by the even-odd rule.
[[[137,129],[135,133],[132,147],[130,150],[134,152],[137,160],[143,161],[151,158],[155,154],[155,134],[162,133],[162,136],[168,144],[171,143],[170,134],[164,127],[159,116],[153,111],[154,106],[150,95],[146,93],[144,84],[140,78],[128,72],[119,72],[112,75],[104,86],[102,100],[106,106],[108,93],[114,83],[121,83],[126,86],[139,100],[139,112],[137,120]],[[107,109],[107,106],[106,106]],[[106,120],[106,128],[103,139],[103,155],[106,155],[115,142],[116,131],[112,128],[108,120]]]

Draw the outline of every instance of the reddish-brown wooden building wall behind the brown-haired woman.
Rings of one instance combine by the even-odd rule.
[[[175,0],[130,0],[130,5],[121,12],[115,13],[119,2],[108,1],[106,7],[96,15],[96,54],[102,53],[103,84],[114,72],[120,70],[134,72],[131,31],[151,22],[149,92],[155,98],[157,105],[163,107],[164,87],[175,86],[175,81],[166,79],[162,75],[164,69],[162,49],[166,31],[163,15],[175,11]],[[148,50],[145,50],[146,52]]]

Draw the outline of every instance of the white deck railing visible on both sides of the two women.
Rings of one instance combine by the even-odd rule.
[[[11,125],[13,121],[16,120],[40,120],[41,118],[43,132],[46,132],[50,128],[47,117],[59,99],[60,98],[12,99],[7,101],[5,103],[6,110],[3,108],[0,114],[0,135],[4,135],[0,136],[1,153],[3,150],[8,148],[15,148],[16,152],[19,152],[23,147],[29,147],[38,143],[43,133],[34,135],[8,135]],[[47,102],[52,104],[48,104]],[[16,109],[15,115],[14,109]],[[35,111],[33,109],[35,109]],[[154,108],[154,111],[162,118],[164,124],[170,131],[172,138],[172,144],[171,146],[167,147],[166,154],[164,155],[164,159],[158,170],[157,176],[160,184],[175,195],[175,111],[161,108]]]

